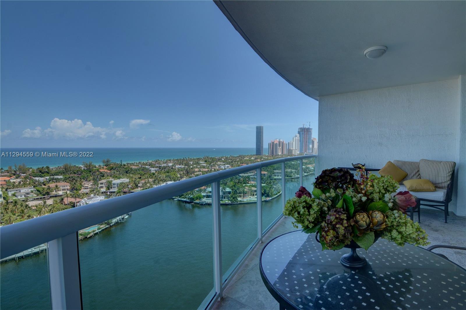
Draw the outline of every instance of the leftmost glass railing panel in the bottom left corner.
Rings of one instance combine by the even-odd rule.
[[[47,244],[0,263],[0,309],[50,309]]]

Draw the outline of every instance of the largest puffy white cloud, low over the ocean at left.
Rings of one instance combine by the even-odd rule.
[[[105,139],[108,131],[109,130],[105,128],[94,127],[90,121],[84,124],[82,120],[78,119],[69,121],[55,117],[50,122],[50,128],[45,130],[42,130],[40,127],[36,127],[34,130],[28,128],[23,131],[22,136],[26,138],[53,136],[55,139],[77,139],[99,136],[100,138]]]

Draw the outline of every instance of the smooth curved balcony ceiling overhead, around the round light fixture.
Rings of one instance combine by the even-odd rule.
[[[466,1],[215,1],[278,74],[319,96],[466,73]],[[364,57],[368,47],[386,54]]]

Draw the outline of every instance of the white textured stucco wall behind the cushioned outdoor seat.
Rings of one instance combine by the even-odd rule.
[[[458,189],[463,193],[466,163],[460,152],[465,135],[461,137],[460,130],[464,130],[466,120],[465,80],[320,97],[317,169],[357,162],[382,168],[395,159],[454,161],[458,181],[462,181]],[[456,193],[453,195],[450,210],[466,215],[464,198],[457,210]]]

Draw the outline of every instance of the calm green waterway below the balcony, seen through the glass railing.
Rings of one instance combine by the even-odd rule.
[[[310,190],[314,175],[304,177]],[[298,189],[286,181],[286,197]],[[223,272],[257,237],[255,203],[222,205]],[[263,202],[264,230],[281,196]],[[97,223],[96,223],[97,224]],[[165,200],[79,242],[84,309],[197,309],[213,289],[212,206]],[[50,309],[47,254],[0,265],[1,309]]]

